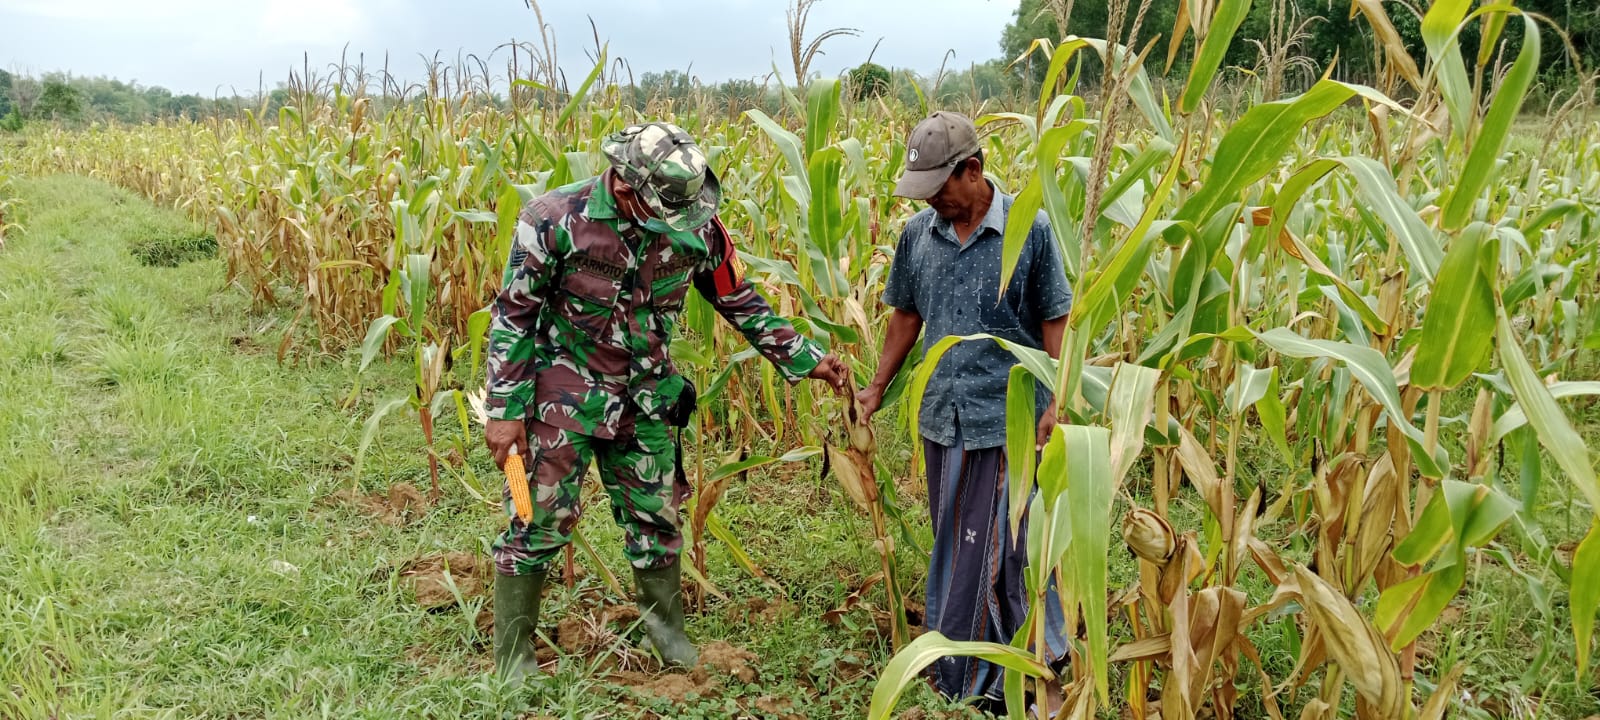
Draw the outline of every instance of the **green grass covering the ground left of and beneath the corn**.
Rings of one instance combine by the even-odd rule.
[[[499,512],[451,480],[443,502],[403,523],[330,501],[352,485],[426,488],[421,432],[400,416],[384,422],[354,477],[362,421],[378,398],[406,387],[405,363],[381,365],[346,410],[354,357],[302,350],[278,363],[293,307],[251,307],[222,286],[214,256],[176,267],[131,256],[131,243],[181,218],[86,179],[22,179],[16,192],[27,230],[0,251],[0,718],[861,715],[886,648],[864,613],[840,626],[821,616],[877,557],[864,520],[818,467],[752,475],[718,507],[784,594],[750,579],[712,541],[710,576],[733,600],[712,600],[690,632],[702,645],[750,651],[754,680],[726,677],[704,696],[667,702],[610,680],[605,653],[579,653],[558,658],[552,675],[506,686],[485,672],[488,638],[477,618],[486,597],[469,592],[461,605],[424,610],[402,573],[448,552],[482,557]],[[1470,410],[1470,398],[1456,400],[1450,414]],[[1579,414],[1579,430],[1597,437],[1595,405]],[[440,432],[459,429],[442,421]],[[880,432],[890,467],[907,467],[898,424],[886,418]],[[482,448],[466,462],[494,475]],[[1242,467],[1242,491],[1256,477],[1282,486],[1285,470],[1269,448],[1246,443]],[[1515,494],[1515,480],[1507,485]],[[1146,486],[1136,478],[1131,490]],[[589,488],[584,531],[622,573],[621,538],[597,490]],[[925,542],[920,493],[907,494],[904,510]],[[1552,477],[1536,502],[1550,544],[1586,526],[1587,510],[1570,496]],[[1174,520],[1200,528],[1198,502],[1179,498]],[[1290,557],[1309,557],[1283,522],[1261,534]],[[1514,533],[1501,542],[1520,552]],[[920,600],[922,562],[902,550],[907,589]],[[1424,637],[1421,674],[1469,666],[1472,701],[1458,702],[1458,717],[1600,712],[1594,683],[1571,677],[1560,581],[1522,568],[1542,584],[1546,595],[1536,597],[1496,560],[1475,562],[1454,603],[1459,614]],[[1114,587],[1134,576],[1114,542]],[[1253,568],[1242,584],[1251,603],[1272,590]],[[786,610],[752,618],[750,600]],[[592,619],[611,603],[627,598],[587,573],[574,590],[549,592],[541,629],[555,634],[562,619]],[[1251,630],[1275,678],[1294,666],[1291,627],[1290,616]],[[1126,634],[1125,621],[1114,634]],[[1122,672],[1114,669],[1114,685]],[[656,682],[632,682],[640,680]],[[1259,715],[1248,662],[1238,685],[1240,717]],[[1312,694],[1302,690],[1301,702]],[[920,686],[901,704],[912,707],[950,710]]]

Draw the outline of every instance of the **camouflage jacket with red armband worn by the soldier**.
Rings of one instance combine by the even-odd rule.
[[[690,285],[790,382],[822,358],[742,277],[720,221],[637,227],[605,176],[534,198],[491,306],[490,418],[533,416],[600,438],[635,410],[662,419],[683,390],[667,344]]]

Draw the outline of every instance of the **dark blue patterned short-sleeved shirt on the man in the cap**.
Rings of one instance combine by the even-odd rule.
[[[1034,218],[1011,286],[1000,296],[1000,248],[1010,213],[1011,195],[994,190],[989,213],[966,245],[933,208],[906,222],[883,304],[922,315],[923,352],[942,338],[973,333],[1043,349],[1045,320],[1072,309],[1061,248],[1045,213]],[[968,450],[1005,445],[1005,389],[1013,365],[1016,358],[989,341],[960,342],[946,352],[922,400],[922,435],[950,446],[960,422]],[[1048,403],[1048,389],[1038,386],[1037,411]]]

